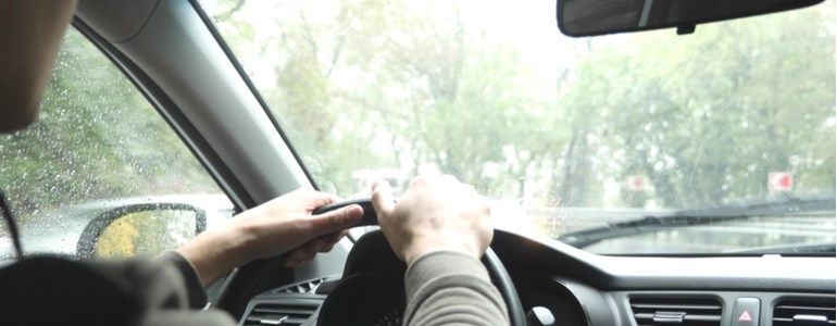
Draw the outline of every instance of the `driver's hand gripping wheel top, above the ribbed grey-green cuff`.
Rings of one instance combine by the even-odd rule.
[[[436,251],[479,259],[494,237],[488,201],[450,175],[418,176],[396,203],[389,184],[372,187],[378,224],[399,259]]]

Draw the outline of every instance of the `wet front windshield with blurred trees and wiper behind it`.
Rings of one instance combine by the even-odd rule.
[[[834,1],[594,38],[549,1],[200,3],[322,190],[441,172],[594,252],[834,251]]]

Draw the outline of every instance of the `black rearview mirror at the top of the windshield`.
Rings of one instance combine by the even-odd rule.
[[[747,17],[823,0],[558,0],[558,27],[567,36],[595,36],[676,27]]]

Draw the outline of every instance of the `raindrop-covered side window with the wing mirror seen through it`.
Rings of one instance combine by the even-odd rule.
[[[0,135],[0,191],[26,254],[152,255],[233,204],[158,112],[70,30],[35,124]],[[0,227],[0,260],[13,254]]]

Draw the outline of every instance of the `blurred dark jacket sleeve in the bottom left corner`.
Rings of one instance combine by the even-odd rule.
[[[0,268],[0,325],[232,326],[176,252],[121,262],[27,256]]]

